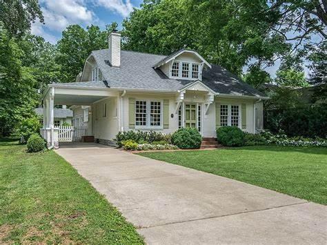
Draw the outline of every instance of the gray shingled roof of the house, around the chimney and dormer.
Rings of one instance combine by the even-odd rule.
[[[180,50],[179,50],[180,51]],[[108,49],[92,51],[106,81],[61,84],[62,86],[92,86],[110,88],[132,88],[144,90],[181,90],[194,82],[183,79],[169,79],[164,72],[153,68],[164,55],[121,50],[121,66],[110,66]],[[171,57],[171,55],[169,56]],[[215,92],[228,95],[264,96],[255,88],[245,84],[221,66],[212,65],[202,74],[202,82]]]

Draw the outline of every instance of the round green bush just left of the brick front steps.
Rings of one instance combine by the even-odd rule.
[[[179,128],[172,134],[172,144],[181,149],[198,149],[202,136],[196,128]]]

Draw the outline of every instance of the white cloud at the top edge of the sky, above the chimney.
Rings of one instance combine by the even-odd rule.
[[[117,12],[122,17],[127,17],[133,10],[130,0],[94,0],[94,2],[98,6]]]

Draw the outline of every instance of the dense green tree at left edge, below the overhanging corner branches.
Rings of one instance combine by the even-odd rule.
[[[1,28],[0,28],[1,29]],[[8,32],[0,33],[0,133],[9,135],[21,119],[33,115],[37,92],[30,69],[21,66],[22,50]]]

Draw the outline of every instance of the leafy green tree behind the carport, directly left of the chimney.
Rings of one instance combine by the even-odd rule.
[[[68,26],[63,30],[63,37],[58,41],[57,48],[56,61],[65,76],[61,82],[75,81],[92,50],[108,48],[108,31],[101,31],[98,26],[93,25],[86,30],[79,25]]]

